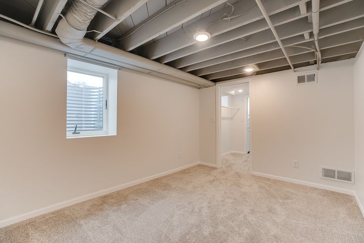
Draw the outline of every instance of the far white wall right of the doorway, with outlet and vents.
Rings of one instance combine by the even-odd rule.
[[[354,170],[352,61],[322,64],[317,84],[296,86],[295,79],[292,70],[252,77],[253,171],[353,190],[353,184],[320,179],[320,166]],[[200,110],[215,107],[208,99],[200,97]],[[200,143],[207,141],[200,136]],[[210,151],[216,153],[215,144]]]

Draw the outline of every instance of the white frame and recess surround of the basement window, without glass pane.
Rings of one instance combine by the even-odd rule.
[[[66,130],[66,138],[98,137],[116,135],[116,106],[117,106],[117,71],[111,68],[91,64],[84,61],[68,59],[67,71],[98,76],[104,79],[103,97],[103,130],[101,131],[78,131],[79,134],[72,134],[73,131]],[[96,70],[96,71],[95,71]],[[111,73],[114,72],[114,73]],[[109,89],[111,86],[111,90]],[[68,91],[68,90],[67,90]],[[68,92],[67,92],[68,95]],[[67,97],[66,97],[67,98]],[[107,109],[105,104],[107,100]],[[67,120],[67,115],[66,115]],[[66,122],[67,123],[67,122]]]

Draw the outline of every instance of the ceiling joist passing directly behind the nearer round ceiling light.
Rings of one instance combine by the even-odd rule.
[[[342,1],[346,2],[346,0],[342,0]],[[329,8],[330,6],[336,6],[336,4],[324,5],[324,7],[326,9]],[[285,24],[287,22],[297,20],[299,18],[311,16],[311,15],[312,15],[311,10],[308,13],[301,15],[299,6],[296,6],[296,7],[287,9],[283,12],[279,12],[274,15],[271,15],[271,20],[272,20],[272,23],[274,24],[274,26],[278,26],[278,25]],[[242,38],[242,37],[254,34],[254,33],[258,33],[260,31],[264,31],[266,29],[269,29],[269,26],[264,19],[261,19],[261,20],[255,21],[253,23],[236,28],[234,30],[225,32],[223,35],[214,36],[214,37],[210,38],[210,40],[208,40],[208,42],[196,43],[194,45],[190,45],[188,47],[185,47],[185,48],[175,51],[173,53],[167,54],[167,55],[159,58],[156,61],[161,62],[161,63],[174,61],[179,58],[183,58],[188,55],[192,55],[194,53],[201,52],[208,48],[222,45],[226,42],[233,41],[233,40],[236,40],[236,39],[239,39],[239,38]]]

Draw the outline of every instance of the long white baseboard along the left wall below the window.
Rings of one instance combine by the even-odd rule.
[[[24,221],[24,220],[27,220],[27,219],[30,219],[30,218],[34,218],[36,216],[39,216],[39,215],[42,215],[42,214],[45,214],[45,213],[49,213],[49,212],[52,212],[52,211],[55,211],[55,210],[58,210],[58,209],[61,209],[61,208],[64,208],[64,207],[68,207],[68,206],[74,205],[74,204],[79,203],[79,202],[83,202],[83,201],[86,201],[86,200],[89,200],[89,199],[93,199],[93,198],[96,198],[96,197],[99,197],[99,196],[103,196],[103,195],[106,195],[106,194],[114,192],[114,191],[125,189],[125,188],[133,186],[133,185],[137,185],[137,184],[140,184],[140,183],[143,183],[143,182],[148,182],[148,181],[151,181],[153,179],[156,179],[156,178],[159,178],[159,177],[162,177],[162,176],[166,176],[166,175],[178,172],[178,171],[182,171],[182,170],[185,170],[187,168],[190,168],[190,167],[193,167],[193,166],[196,166],[196,165],[205,165],[205,166],[215,167],[215,165],[213,165],[213,164],[208,164],[208,163],[203,163],[203,162],[195,162],[195,163],[185,165],[185,166],[182,166],[182,167],[179,167],[179,168],[176,168],[176,169],[173,169],[173,170],[169,170],[169,171],[166,171],[166,172],[162,172],[162,173],[150,176],[150,177],[142,178],[142,179],[139,179],[139,180],[136,180],[136,181],[133,181],[133,182],[127,182],[127,183],[124,183],[124,184],[116,185],[116,186],[113,186],[113,187],[110,187],[110,188],[107,188],[107,189],[104,189],[104,190],[96,191],[96,192],[93,192],[93,193],[90,193],[90,194],[87,194],[87,195],[83,195],[83,196],[80,196],[80,197],[77,197],[77,198],[73,198],[73,199],[70,199],[70,200],[67,200],[67,201],[63,201],[63,202],[59,202],[59,203],[47,206],[47,207],[44,207],[44,208],[40,208],[40,209],[31,211],[31,212],[28,212],[28,213],[24,213],[24,214],[17,215],[17,216],[8,218],[8,219],[1,220],[0,221],[0,228],[3,228],[5,226],[11,225],[11,224],[15,224],[17,222]]]

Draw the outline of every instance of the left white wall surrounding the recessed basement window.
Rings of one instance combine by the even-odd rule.
[[[121,70],[117,135],[66,139],[63,53],[0,53],[0,221],[199,161],[198,89]]]

